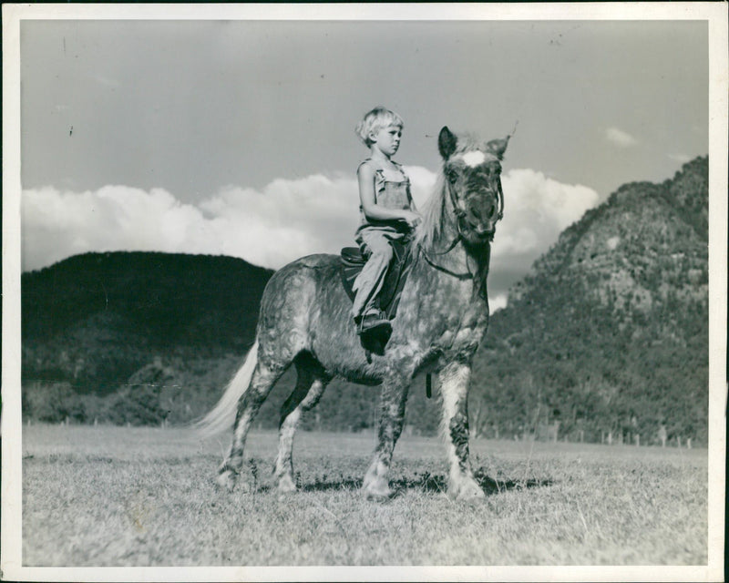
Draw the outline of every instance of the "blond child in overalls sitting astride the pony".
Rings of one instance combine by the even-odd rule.
[[[409,236],[420,215],[410,196],[410,180],[392,159],[403,135],[402,118],[385,107],[375,107],[355,131],[370,148],[370,157],[357,169],[361,224],[355,238],[367,262],[354,281],[352,315],[363,334],[390,328],[376,303],[393,257],[390,241]]]

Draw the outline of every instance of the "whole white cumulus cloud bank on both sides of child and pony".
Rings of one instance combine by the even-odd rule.
[[[406,170],[422,209],[436,174]],[[506,210],[489,279],[492,309],[506,304],[508,285],[598,201],[594,190],[530,169],[509,171],[503,187]],[[358,207],[356,179],[348,174],[275,179],[260,190],[230,186],[196,204],[182,203],[164,189],[27,189],[21,205],[23,269],[87,251],[231,255],[278,269],[303,255],[353,245]]]

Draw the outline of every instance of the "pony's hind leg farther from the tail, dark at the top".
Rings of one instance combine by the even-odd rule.
[[[301,366],[297,367],[299,377],[296,388],[286,399],[281,408],[279,424],[279,455],[276,457],[274,478],[278,489],[282,492],[293,492],[296,483],[293,480],[293,436],[303,413],[313,409],[322,397],[326,381],[315,377],[313,373]]]

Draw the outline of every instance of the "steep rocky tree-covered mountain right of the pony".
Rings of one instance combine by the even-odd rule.
[[[563,231],[493,315],[474,379],[487,435],[559,423],[590,441],[705,443],[708,159],[626,184]]]

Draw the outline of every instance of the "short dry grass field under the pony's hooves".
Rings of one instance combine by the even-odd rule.
[[[297,436],[301,492],[267,478],[274,433],[252,433],[256,489],[216,490],[221,442],[181,429],[23,431],[25,566],[705,565],[706,450],[480,441],[487,497],[445,496],[445,449],[404,436],[398,496],[357,491],[375,436]]]

